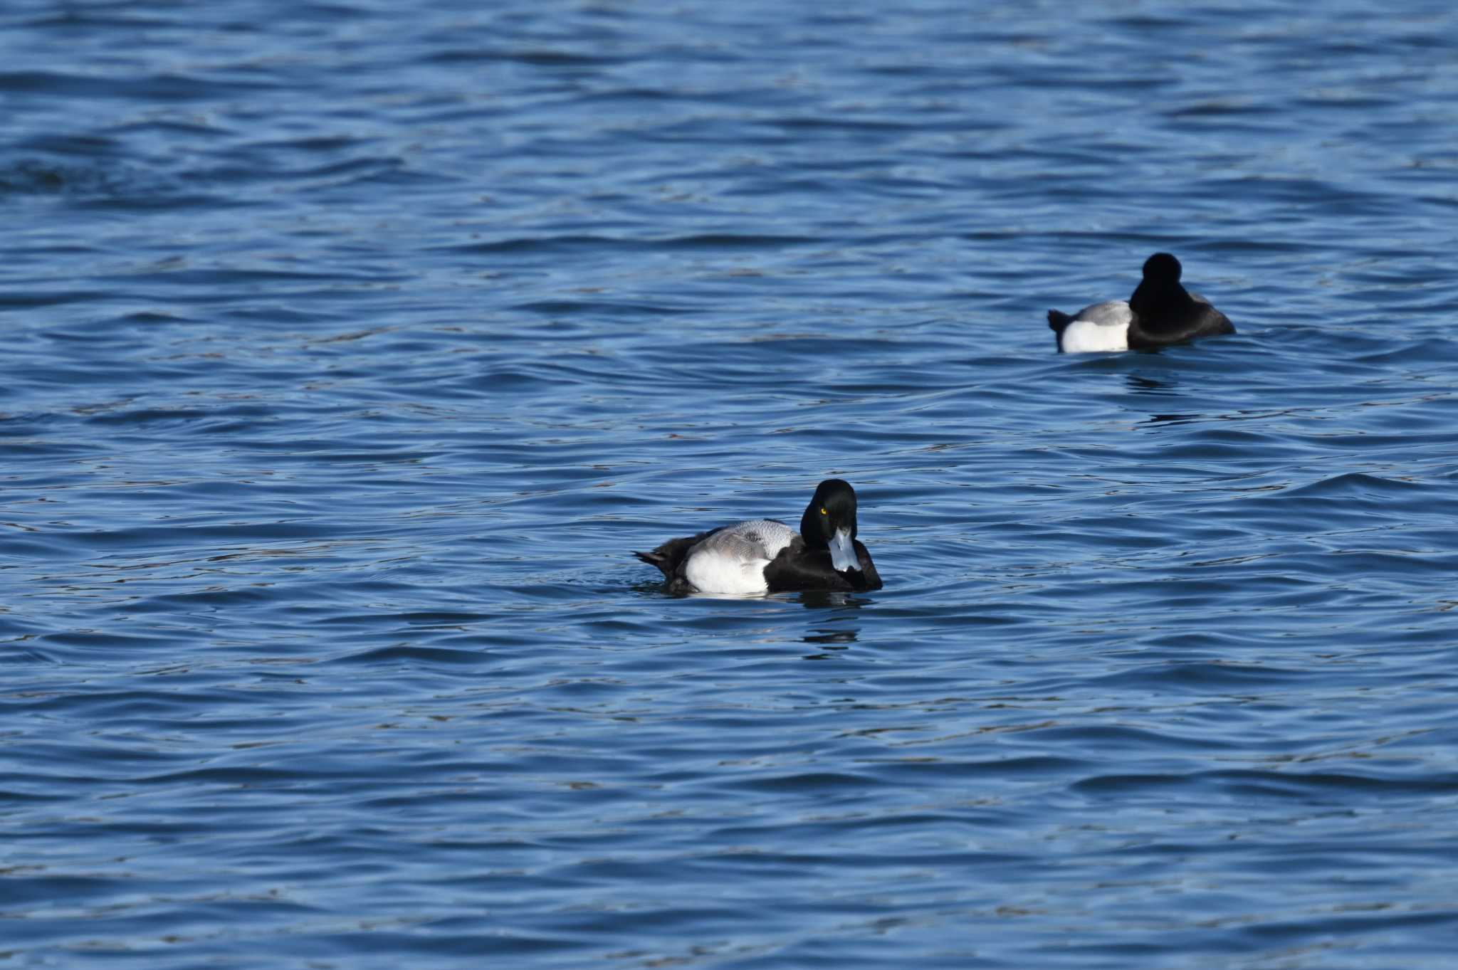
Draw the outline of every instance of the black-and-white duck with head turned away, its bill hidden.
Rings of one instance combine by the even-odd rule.
[[[1171,344],[1233,334],[1231,318],[1180,283],[1184,267],[1168,252],[1145,261],[1145,277],[1128,300],[1086,306],[1073,316],[1048,310],[1060,354],[1158,350]]]

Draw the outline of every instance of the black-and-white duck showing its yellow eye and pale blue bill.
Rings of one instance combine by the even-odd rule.
[[[815,486],[799,532],[777,518],[751,518],[633,555],[658,567],[675,594],[881,588],[876,564],[856,539],[856,489],[838,478]]]

